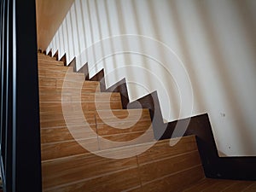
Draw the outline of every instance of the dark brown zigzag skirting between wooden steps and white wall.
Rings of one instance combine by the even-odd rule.
[[[65,57],[65,55],[63,57]],[[84,66],[79,69],[79,73],[84,73],[86,79],[89,79],[88,63],[84,64]],[[188,119],[178,119],[165,124],[163,122],[156,91],[148,94],[148,96],[143,96],[137,102],[130,103],[125,79],[120,80],[110,88],[106,89],[104,70],[102,69],[90,80],[100,81],[102,91],[120,92],[123,108],[137,108],[137,102],[140,102],[140,105],[143,108],[148,108],[153,122],[153,128],[157,127],[157,129],[154,128],[155,138],[159,138],[160,140],[172,138],[172,132],[177,125],[177,121],[184,124],[187,124],[189,121],[187,131],[184,135],[196,136],[202,165],[207,177],[256,180],[256,166],[254,166],[256,165],[256,157],[218,156],[218,150],[212,133],[212,126],[207,113],[196,115]],[[236,172],[234,172],[234,170],[236,170]]]

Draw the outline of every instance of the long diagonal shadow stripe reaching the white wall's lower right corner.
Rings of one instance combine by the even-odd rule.
[[[235,1],[234,4],[236,4],[236,2],[239,1]],[[241,108],[243,108],[240,101],[241,96],[239,96],[239,90],[236,87],[237,85],[233,83],[234,74],[232,74],[229,68],[230,65],[227,63],[228,60],[224,55],[224,48],[221,46],[221,44],[219,44],[218,33],[216,32],[216,28],[214,28],[214,22],[211,20],[209,15],[210,10],[208,10],[207,6],[204,6],[203,3],[199,3],[197,1],[195,1],[195,5],[199,15],[201,16],[204,29],[206,30],[205,34],[207,35],[208,45],[211,49],[212,59],[215,63],[213,67],[216,67],[216,71],[218,72],[218,79],[220,79],[222,85],[224,86],[225,102],[228,102],[228,106],[231,108],[231,113],[229,115],[233,117],[232,119],[234,124],[239,128],[236,129],[236,131],[238,131],[238,134],[241,136],[239,139],[242,140],[241,144],[243,151],[246,153],[253,151],[255,148],[253,144],[254,137],[252,137],[250,130],[247,129],[250,127],[250,125],[247,124],[246,115],[241,112]],[[253,37],[251,38],[254,39]]]

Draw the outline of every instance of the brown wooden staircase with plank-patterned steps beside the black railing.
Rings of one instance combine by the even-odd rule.
[[[255,191],[205,178],[195,136],[154,141],[148,109],[123,109],[63,62],[38,54],[38,76],[43,191]]]

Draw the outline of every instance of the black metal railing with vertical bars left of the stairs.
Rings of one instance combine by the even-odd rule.
[[[0,167],[4,192],[40,192],[34,0],[0,0]]]

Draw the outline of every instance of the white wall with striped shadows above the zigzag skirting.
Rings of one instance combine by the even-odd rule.
[[[209,113],[219,154],[256,155],[256,1],[76,0],[47,51],[158,91],[164,119]]]

